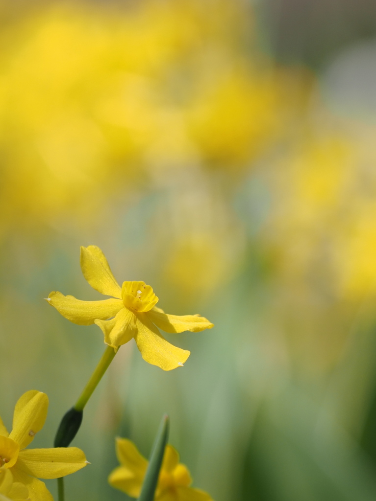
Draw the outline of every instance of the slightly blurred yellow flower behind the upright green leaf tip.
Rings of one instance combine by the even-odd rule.
[[[120,466],[112,471],[108,482],[131,497],[139,497],[148,461],[127,438],[116,438],[116,455]],[[166,445],[155,501],[212,501],[203,490],[190,487],[191,483],[188,468],[179,463],[178,452]]]

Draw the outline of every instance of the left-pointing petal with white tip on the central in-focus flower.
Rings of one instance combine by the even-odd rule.
[[[107,320],[124,308],[121,299],[103,299],[102,301],[81,301],[73,296],[64,296],[61,292],[51,292],[48,302],[57,311],[74,324],[90,325],[94,320]]]

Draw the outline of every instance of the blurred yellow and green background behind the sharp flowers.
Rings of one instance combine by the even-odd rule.
[[[161,416],[215,501],[376,498],[376,7],[371,0],[2,2],[0,413],[52,444],[103,351],[52,290],[100,299],[79,245],[202,333],[132,341],[85,409],[67,499],[126,500],[114,436]],[[47,481],[56,493],[55,482]]]

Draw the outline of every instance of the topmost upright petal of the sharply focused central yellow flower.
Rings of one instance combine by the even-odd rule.
[[[121,288],[99,247],[81,247],[80,263],[83,276],[93,289],[105,296],[121,298]]]

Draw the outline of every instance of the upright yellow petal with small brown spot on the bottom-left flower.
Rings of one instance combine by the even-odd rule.
[[[13,415],[13,430],[9,435],[23,449],[43,428],[47,417],[48,397],[37,390],[27,391],[16,404]]]

